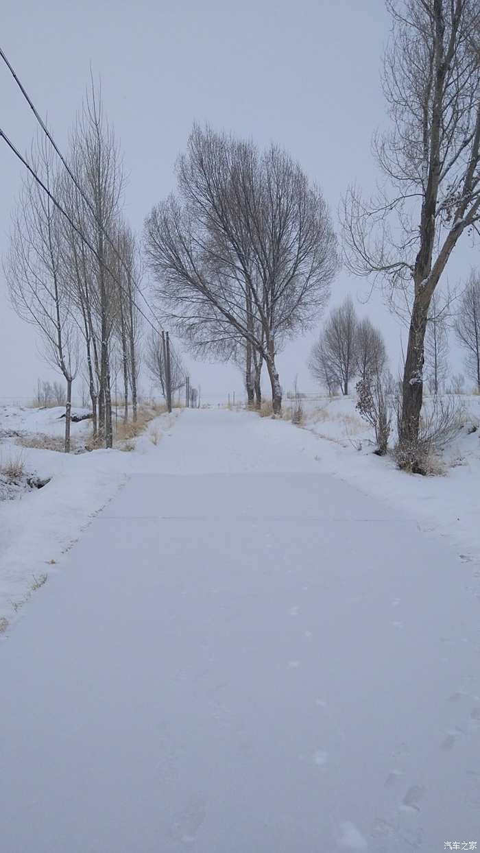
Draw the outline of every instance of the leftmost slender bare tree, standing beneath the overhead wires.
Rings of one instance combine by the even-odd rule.
[[[32,164],[49,192],[55,195],[57,182],[48,143],[38,142],[32,151]],[[72,382],[78,372],[78,342],[62,264],[59,218],[60,213],[49,195],[28,175],[14,213],[4,270],[14,310],[38,328],[44,357],[61,371],[66,380],[65,452],[68,453]],[[51,395],[55,398],[55,388]]]

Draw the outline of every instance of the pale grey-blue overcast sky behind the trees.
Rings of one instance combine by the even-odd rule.
[[[370,140],[387,121],[379,76],[389,36],[383,0],[3,0],[2,8],[2,48],[61,148],[90,63],[101,76],[105,111],[124,153],[125,214],[138,232],[153,204],[174,189],[173,165],[194,121],[260,145],[279,142],[320,184],[335,220],[350,182],[374,189]],[[3,65],[0,100],[3,130],[26,151],[35,119]],[[2,254],[20,170],[0,144]],[[454,281],[471,263],[460,241]],[[365,281],[346,272],[333,285],[331,304],[349,291],[359,314],[383,329],[396,370],[402,327],[379,294],[365,304]],[[280,356],[285,390],[295,374],[302,390],[314,390],[306,368],[312,337]],[[191,373],[205,396],[243,392],[233,367],[192,363]],[[31,397],[37,378],[50,375],[33,329],[9,308],[0,272],[0,397]]]

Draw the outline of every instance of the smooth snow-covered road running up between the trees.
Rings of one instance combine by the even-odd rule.
[[[183,413],[0,643],[3,853],[480,849],[478,567],[299,437]]]

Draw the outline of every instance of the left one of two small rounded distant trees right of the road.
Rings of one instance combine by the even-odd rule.
[[[356,374],[356,334],[358,319],[350,296],[334,308],[325,323],[319,341],[323,363],[346,395],[349,382]]]

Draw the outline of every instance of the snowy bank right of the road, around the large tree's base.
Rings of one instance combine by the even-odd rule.
[[[439,477],[402,473],[390,457],[374,456],[373,432],[356,413],[353,397],[324,398],[315,411],[307,405],[305,429],[318,438],[315,456],[322,471],[400,510],[422,531],[448,538],[463,559],[478,560],[480,430],[469,430],[480,424],[480,397],[466,397],[463,404],[466,427],[445,451],[446,473]]]

